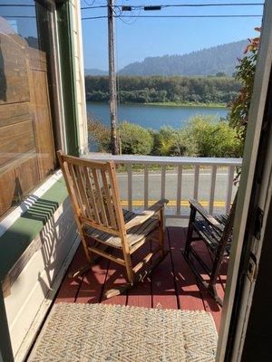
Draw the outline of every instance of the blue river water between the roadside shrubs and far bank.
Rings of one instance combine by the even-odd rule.
[[[102,120],[105,125],[110,125],[108,103],[87,102],[87,112],[94,119]],[[181,129],[186,126],[192,116],[214,116],[224,118],[228,114],[227,108],[205,107],[161,107],[148,104],[121,104],[118,107],[119,122],[127,120],[149,129],[160,129],[169,126]]]

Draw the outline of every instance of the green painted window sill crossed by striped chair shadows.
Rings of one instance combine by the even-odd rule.
[[[37,199],[0,237],[0,278],[15,265],[28,245],[41,232],[57,208],[68,197],[63,178]]]

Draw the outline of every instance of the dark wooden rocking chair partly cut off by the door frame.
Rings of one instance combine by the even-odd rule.
[[[236,199],[237,196],[234,199],[228,215],[214,216],[209,214],[197,200],[189,200],[189,227],[183,254],[198,280],[205,286],[220,306],[222,306],[223,301],[219,298],[216,283],[219,278],[220,266],[224,258],[229,255]],[[211,268],[203,261],[194,248],[194,244],[199,241],[204,242],[211,253],[213,260]],[[199,262],[200,266],[207,272],[209,281],[203,280],[200,272],[194,265],[193,258]]]

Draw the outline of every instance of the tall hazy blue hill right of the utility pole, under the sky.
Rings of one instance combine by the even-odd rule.
[[[214,46],[184,55],[148,57],[143,62],[132,62],[121,75],[215,75],[224,72],[232,75],[238,57],[248,45],[247,40]]]

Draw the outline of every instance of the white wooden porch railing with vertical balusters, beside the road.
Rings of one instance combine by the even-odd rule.
[[[160,177],[160,197],[165,198],[167,192],[167,167],[174,167],[177,169],[177,178],[175,182],[175,200],[172,200],[171,205],[174,205],[173,208],[166,209],[166,217],[174,218],[188,218],[189,210],[187,213],[181,214],[181,205],[184,204],[184,201],[181,203],[181,190],[184,186],[182,183],[184,169],[191,167],[192,176],[193,176],[193,185],[192,185],[192,195],[191,197],[198,199],[199,198],[199,171],[201,169],[210,170],[209,178],[209,196],[208,200],[204,202],[205,206],[209,206],[209,213],[213,213],[215,203],[215,190],[217,185],[217,172],[219,167],[227,168],[226,173],[226,190],[224,204],[224,212],[228,213],[232,201],[232,191],[233,191],[233,179],[236,167],[241,167],[242,158],[218,158],[218,157],[160,157],[160,156],[132,156],[132,155],[122,155],[122,156],[112,156],[110,154],[100,154],[100,153],[89,153],[88,158],[97,159],[97,160],[113,160],[116,165],[125,165],[126,166],[126,177],[127,177],[127,207],[129,210],[133,208],[133,190],[132,190],[132,177],[133,177],[133,165],[141,165],[143,167],[143,199],[142,205],[144,208],[147,208],[150,201],[149,187],[150,187],[150,169],[152,166],[158,167]],[[205,174],[209,175],[209,174]],[[171,186],[172,187],[172,186]],[[173,190],[171,190],[173,191]],[[137,201],[139,205],[139,200]]]

